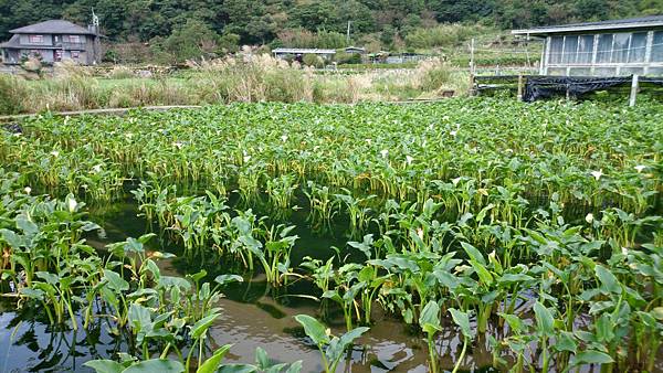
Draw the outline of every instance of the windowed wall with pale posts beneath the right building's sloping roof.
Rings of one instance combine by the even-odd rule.
[[[552,35],[544,51],[543,75],[663,75],[663,30]]]

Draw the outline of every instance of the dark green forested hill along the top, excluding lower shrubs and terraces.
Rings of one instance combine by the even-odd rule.
[[[663,13],[663,0],[0,0],[0,39],[36,21],[88,23],[91,9],[109,41],[150,41],[187,26],[232,42],[266,44],[288,32],[372,38],[382,44],[438,23],[498,29]],[[366,41],[365,41],[366,42]]]

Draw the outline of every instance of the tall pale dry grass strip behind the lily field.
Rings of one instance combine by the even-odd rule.
[[[138,77],[120,67],[107,76],[67,67],[56,77],[27,81],[0,75],[0,114],[231,102],[357,103],[431,98],[467,92],[469,79],[439,60],[410,71],[320,75],[269,56],[220,60],[182,75]]]

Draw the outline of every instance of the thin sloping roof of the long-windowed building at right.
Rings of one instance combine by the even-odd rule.
[[[526,30],[513,30],[516,35],[547,35],[554,33],[580,32],[580,31],[609,31],[623,29],[650,29],[663,28],[663,15],[651,15],[641,18],[630,18],[624,20],[609,20],[599,22],[570,23],[560,25],[549,25],[533,28]]]

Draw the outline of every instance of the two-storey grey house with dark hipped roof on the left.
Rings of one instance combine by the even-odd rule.
[[[0,44],[2,62],[19,64],[28,56],[43,63],[72,60],[82,65],[102,62],[98,22],[82,28],[64,20],[51,20],[10,30],[13,35]]]

